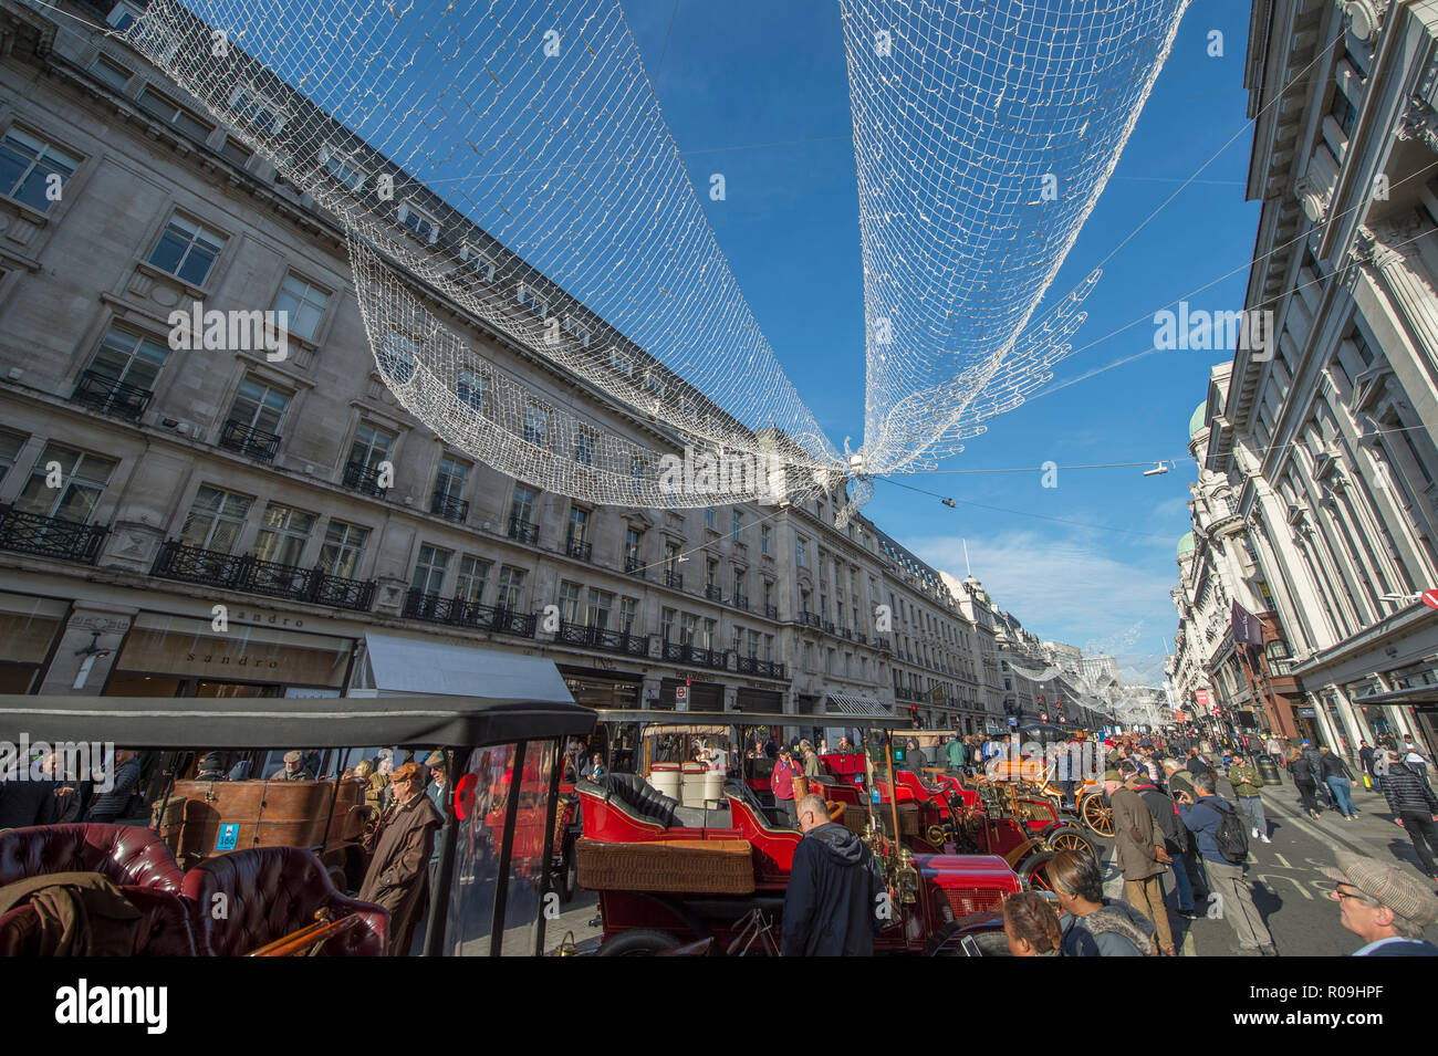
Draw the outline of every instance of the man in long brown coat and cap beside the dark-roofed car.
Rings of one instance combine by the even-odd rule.
[[[360,886],[360,901],[390,911],[390,957],[410,951],[414,925],[429,904],[430,856],[434,833],[444,819],[424,795],[424,772],[418,763],[397,766],[390,774],[394,802],[380,822],[374,856]]]

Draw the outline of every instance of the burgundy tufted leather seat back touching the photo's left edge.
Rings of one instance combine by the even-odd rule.
[[[180,894],[184,872],[150,829],[36,825],[0,832],[0,886],[50,872],[98,872],[121,886]]]

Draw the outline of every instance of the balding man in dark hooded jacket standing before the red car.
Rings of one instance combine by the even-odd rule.
[[[785,957],[871,957],[892,920],[883,876],[869,845],[828,820],[820,796],[798,806],[804,839],[784,892]]]

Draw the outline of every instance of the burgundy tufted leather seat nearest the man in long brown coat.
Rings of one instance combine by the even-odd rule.
[[[299,848],[250,848],[209,858],[184,875],[183,895],[200,953],[213,957],[253,953],[312,924],[324,907],[336,920],[358,912],[364,924],[328,941],[321,955],[383,957],[390,932],[387,911],[341,895],[321,861]]]

